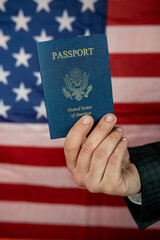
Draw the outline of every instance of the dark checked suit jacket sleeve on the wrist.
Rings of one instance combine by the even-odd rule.
[[[125,201],[138,227],[144,229],[160,220],[160,142],[129,148],[141,180],[142,205]]]

